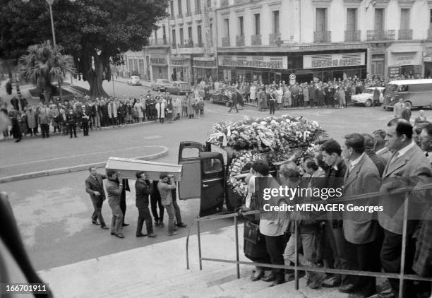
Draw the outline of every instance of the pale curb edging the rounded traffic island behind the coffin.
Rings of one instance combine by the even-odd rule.
[[[168,151],[169,151],[168,148],[165,146],[160,146],[160,147],[163,148],[162,152],[160,152],[160,153],[154,153],[154,154],[149,154],[149,155],[140,156],[140,157],[133,157],[131,159],[133,159],[133,160],[156,160],[160,157],[168,156]],[[54,176],[54,175],[58,175],[58,174],[81,172],[81,171],[87,170],[89,167],[97,167],[97,168],[105,167],[106,164],[107,164],[107,162],[94,162],[94,163],[86,164],[86,165],[76,165],[73,167],[60,167],[58,169],[47,169],[45,171],[30,172],[27,174],[19,174],[19,175],[15,175],[15,176],[1,177],[0,178],[0,184],[6,183],[6,182],[18,181],[18,180],[32,179],[32,178],[37,178],[37,177]]]

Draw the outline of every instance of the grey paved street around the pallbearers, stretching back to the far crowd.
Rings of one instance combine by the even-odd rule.
[[[276,112],[277,115],[288,113],[294,117],[303,115],[307,119],[318,121],[330,136],[339,141],[350,132],[371,132],[384,128],[386,122],[392,118],[391,112],[383,111],[380,107],[301,109]],[[176,163],[180,141],[203,142],[216,121],[239,120],[244,115],[263,117],[267,116],[267,113],[246,107],[239,114],[229,114],[223,106],[207,104],[203,119],[181,119],[175,124],[152,123],[97,131],[90,133],[89,138],[81,137],[73,140],[57,136],[48,140],[28,140],[21,143],[3,142],[0,144],[2,156],[7,158],[1,158],[0,165],[3,170],[6,170],[7,166],[12,164],[26,163],[28,167],[24,169],[32,171],[35,165],[41,163],[45,167],[56,167],[57,161],[54,159],[59,157],[71,160],[72,164],[73,162],[78,164],[82,160],[76,155],[87,155],[86,158],[90,158],[97,152],[113,150],[118,156],[126,156],[130,148],[139,148],[143,145],[167,146],[169,155],[160,161]],[[426,116],[432,119],[432,112],[426,111]],[[40,162],[41,160],[43,162]],[[131,226],[125,229],[125,239],[111,237],[109,231],[91,225],[92,206],[88,194],[84,191],[83,182],[87,175],[87,172],[76,172],[15,181],[0,186],[0,189],[10,193],[18,225],[38,270],[163,242],[169,238],[160,228],[156,228],[156,232],[160,235],[155,239],[134,237],[137,212],[134,207],[133,192],[128,196],[126,221],[130,222]],[[131,181],[131,186],[133,184],[134,181]],[[198,204],[198,200],[180,202],[184,221],[189,224],[193,222],[193,218],[198,214]],[[110,214],[106,204],[103,208],[103,215],[109,222]],[[165,222],[167,222],[166,217]],[[229,224],[231,222],[228,220],[211,222],[212,226],[205,227],[203,230],[214,230]],[[192,232],[195,233],[195,228]],[[186,230],[181,230],[177,237],[185,235]]]

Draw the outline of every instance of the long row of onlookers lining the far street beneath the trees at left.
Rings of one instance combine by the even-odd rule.
[[[139,98],[109,97],[91,100],[86,95],[83,99],[61,102],[59,97],[45,104],[28,105],[23,96],[13,97],[8,103],[0,97],[1,112],[11,121],[11,127],[3,131],[4,137],[11,136],[19,142],[23,136],[49,138],[49,133],[57,131],[64,136],[77,138],[77,130],[83,131],[83,136],[89,135],[89,130],[101,129],[104,126],[125,126],[143,121],[159,121],[164,124],[181,118],[204,117],[204,101],[198,92],[186,93],[182,98],[173,97],[169,93],[158,92]]]

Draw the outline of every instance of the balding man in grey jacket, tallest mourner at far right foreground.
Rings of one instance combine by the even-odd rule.
[[[404,119],[392,119],[388,123],[387,137],[388,148],[393,151],[383,173],[383,181],[380,187],[380,203],[383,212],[378,213],[378,221],[384,229],[383,246],[380,252],[381,263],[385,272],[400,273],[402,227],[404,217],[405,193],[392,194],[394,189],[409,186],[419,188],[430,181],[432,169],[421,149],[412,141],[412,125]],[[415,251],[413,234],[418,219],[421,216],[421,204],[424,201],[424,191],[409,193],[407,239],[405,252],[405,271],[413,273],[412,263]],[[392,294],[397,296],[399,292],[399,280],[389,280]],[[416,289],[411,280],[405,280],[402,290],[403,297],[416,297]]]

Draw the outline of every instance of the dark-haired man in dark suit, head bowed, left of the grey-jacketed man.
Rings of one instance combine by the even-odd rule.
[[[344,183],[347,166],[341,156],[342,148],[335,140],[325,141],[321,145],[323,162],[328,165],[325,172],[326,186],[329,189],[342,188]],[[328,198],[331,202],[332,198]],[[328,213],[328,221],[325,222],[325,234],[328,237],[330,247],[335,258],[335,268],[349,269],[349,260],[347,258],[347,240],[344,238],[342,230],[341,215],[337,213]],[[340,285],[340,290],[349,289],[350,280],[348,275],[337,276],[336,282],[332,285]],[[328,285],[327,282],[323,284]]]

